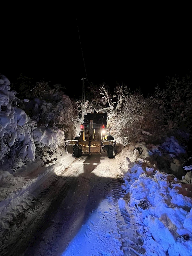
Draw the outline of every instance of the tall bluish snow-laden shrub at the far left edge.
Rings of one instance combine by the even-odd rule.
[[[35,144],[30,120],[17,107],[15,92],[10,91],[9,80],[0,76],[0,160],[12,168],[35,159]]]

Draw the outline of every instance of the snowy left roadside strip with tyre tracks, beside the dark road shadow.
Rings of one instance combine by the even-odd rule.
[[[3,186],[0,188],[1,236],[6,231],[10,232],[12,224],[17,221],[23,212],[30,208],[36,196],[41,192],[40,187],[42,184],[46,187],[46,183],[50,182],[50,177],[59,175],[75,160],[71,154],[64,154],[57,161],[53,161],[43,167],[36,162],[33,165],[26,166],[25,170],[20,170],[14,176],[8,173],[2,177]]]

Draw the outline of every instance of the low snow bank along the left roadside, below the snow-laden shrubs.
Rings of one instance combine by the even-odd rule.
[[[4,216],[9,209],[20,204],[19,198],[27,197],[33,190],[38,188],[44,180],[53,173],[58,173],[60,169],[65,169],[75,159],[71,154],[65,154],[58,157],[57,161],[40,166],[38,162],[25,166],[15,174],[2,172],[0,187],[0,214]],[[25,199],[26,200],[26,199]]]

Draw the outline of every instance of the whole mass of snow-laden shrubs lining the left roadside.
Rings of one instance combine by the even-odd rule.
[[[40,87],[47,84],[41,84]],[[19,100],[9,80],[0,77],[0,161],[2,169],[46,156],[64,145],[65,136],[76,136],[78,117],[62,91],[32,100]],[[20,108],[19,108],[20,107]],[[79,127],[79,125],[78,125]],[[46,157],[45,157],[46,158]],[[39,157],[38,157],[39,159]],[[4,167],[6,164],[6,167]]]

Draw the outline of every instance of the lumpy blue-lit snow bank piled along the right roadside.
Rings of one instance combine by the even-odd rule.
[[[122,188],[130,195],[128,208],[140,225],[146,255],[192,255],[192,185],[159,172],[146,160],[131,161],[133,155],[138,153],[124,150],[119,156]]]

